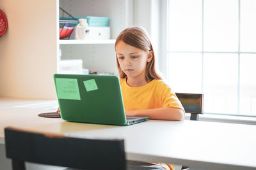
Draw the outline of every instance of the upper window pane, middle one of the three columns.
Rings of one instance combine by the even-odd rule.
[[[237,52],[238,0],[204,1],[204,51]]]

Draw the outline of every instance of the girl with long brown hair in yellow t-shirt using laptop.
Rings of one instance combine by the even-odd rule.
[[[155,69],[147,32],[140,27],[122,31],[115,43],[116,62],[125,114],[157,120],[183,120],[184,108]]]

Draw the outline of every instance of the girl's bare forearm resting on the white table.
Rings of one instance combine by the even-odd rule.
[[[156,108],[149,110],[126,110],[127,116],[149,117],[157,120],[184,120],[185,113],[180,108]]]

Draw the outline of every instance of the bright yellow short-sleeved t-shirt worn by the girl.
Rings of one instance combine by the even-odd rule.
[[[141,87],[130,87],[120,79],[125,110],[147,110],[173,107],[184,111],[173,90],[163,80],[152,80]]]

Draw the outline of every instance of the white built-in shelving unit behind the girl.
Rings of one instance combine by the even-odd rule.
[[[109,17],[111,39],[75,40],[60,39],[60,59],[82,59],[83,67],[90,71],[117,73],[115,39],[125,27],[132,25],[130,0],[57,0],[59,6],[74,17]],[[59,10],[59,9],[58,9]],[[68,17],[59,10],[59,17]],[[59,20],[58,17],[58,20]],[[72,33],[74,34],[74,32]],[[58,59],[58,61],[60,61]],[[59,64],[57,64],[59,66]],[[59,68],[57,68],[59,70]]]

